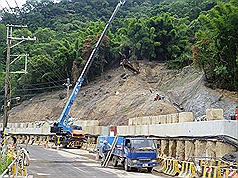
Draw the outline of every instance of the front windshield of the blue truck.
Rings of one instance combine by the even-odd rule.
[[[135,139],[132,140],[132,148],[136,150],[155,150],[155,143],[152,139]]]

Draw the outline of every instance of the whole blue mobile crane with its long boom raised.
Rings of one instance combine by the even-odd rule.
[[[56,133],[55,145],[62,145],[63,147],[66,147],[66,148],[68,148],[68,147],[80,148],[83,145],[83,143],[86,141],[83,128],[81,126],[71,126],[69,124],[69,119],[70,119],[69,111],[70,111],[70,109],[74,103],[74,100],[81,88],[81,85],[84,81],[84,77],[87,74],[87,72],[96,56],[96,52],[98,51],[107,31],[109,29],[109,26],[112,23],[112,20],[114,19],[119,8],[121,6],[123,6],[125,4],[125,2],[126,2],[126,0],[120,0],[120,2],[118,2],[108,23],[105,26],[96,46],[94,47],[93,51],[91,52],[85,67],[83,68],[82,73],[74,86],[72,94],[69,97],[69,99],[60,115],[60,118],[57,120],[57,122],[54,123],[53,127],[51,127],[50,132]]]

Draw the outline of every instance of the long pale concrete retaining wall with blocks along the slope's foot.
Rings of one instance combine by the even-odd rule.
[[[128,126],[117,126],[119,136],[156,136],[160,144],[159,152],[168,157],[186,160],[196,157],[222,157],[228,152],[237,151],[234,146],[217,140],[181,140],[173,137],[204,137],[226,135],[238,136],[236,120],[221,120],[223,111],[207,110],[207,121],[194,122],[192,112],[182,112],[169,115],[130,118]],[[85,134],[110,135],[110,126],[99,126],[98,121],[79,120],[74,125],[81,125]],[[50,124],[8,123],[10,133],[15,134],[49,134]],[[0,129],[2,123],[0,124]],[[161,138],[162,137],[162,138]]]

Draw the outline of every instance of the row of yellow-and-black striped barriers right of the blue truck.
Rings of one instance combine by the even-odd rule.
[[[158,156],[156,171],[170,176],[202,178],[237,178],[238,165],[215,159],[203,159],[198,162],[179,161],[161,154]]]

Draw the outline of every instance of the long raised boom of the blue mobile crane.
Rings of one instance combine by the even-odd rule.
[[[72,107],[72,105],[74,103],[74,100],[75,100],[75,98],[76,98],[76,96],[77,96],[77,94],[78,94],[78,92],[79,92],[79,90],[81,88],[81,85],[82,85],[82,83],[84,81],[84,76],[87,74],[87,72],[88,72],[88,70],[89,70],[89,68],[90,68],[90,66],[91,66],[91,64],[92,64],[92,62],[93,62],[93,60],[94,60],[94,58],[96,56],[96,53],[97,53],[97,51],[98,51],[98,49],[99,49],[99,47],[100,47],[100,45],[101,45],[101,43],[103,41],[103,39],[104,39],[108,29],[109,29],[109,26],[112,23],[112,20],[114,19],[114,17],[116,15],[116,13],[118,12],[119,8],[122,5],[124,5],[125,2],[126,2],[126,0],[120,0],[120,2],[117,4],[115,10],[113,11],[113,13],[112,13],[112,15],[111,15],[107,25],[105,26],[105,28],[104,28],[104,30],[103,30],[103,32],[102,32],[102,34],[101,34],[97,44],[96,44],[96,46],[94,47],[90,57],[88,58],[88,61],[87,61],[86,65],[85,65],[85,67],[83,68],[83,71],[82,71],[80,77],[78,78],[78,80],[77,80],[77,82],[76,82],[76,84],[74,86],[74,89],[73,89],[73,91],[71,93],[71,96],[69,97],[69,99],[68,99],[68,101],[67,101],[67,103],[66,103],[66,105],[65,105],[65,107],[64,107],[64,109],[63,109],[63,111],[62,111],[62,113],[61,113],[61,115],[60,115],[60,117],[58,119],[58,121],[57,121],[57,123],[55,123],[54,128],[51,130],[51,132],[59,133],[62,130],[63,131],[68,131],[70,133],[72,132],[72,128],[70,128],[68,126],[68,120],[70,118],[69,111],[70,111],[70,109],[71,109],[71,107]]]

